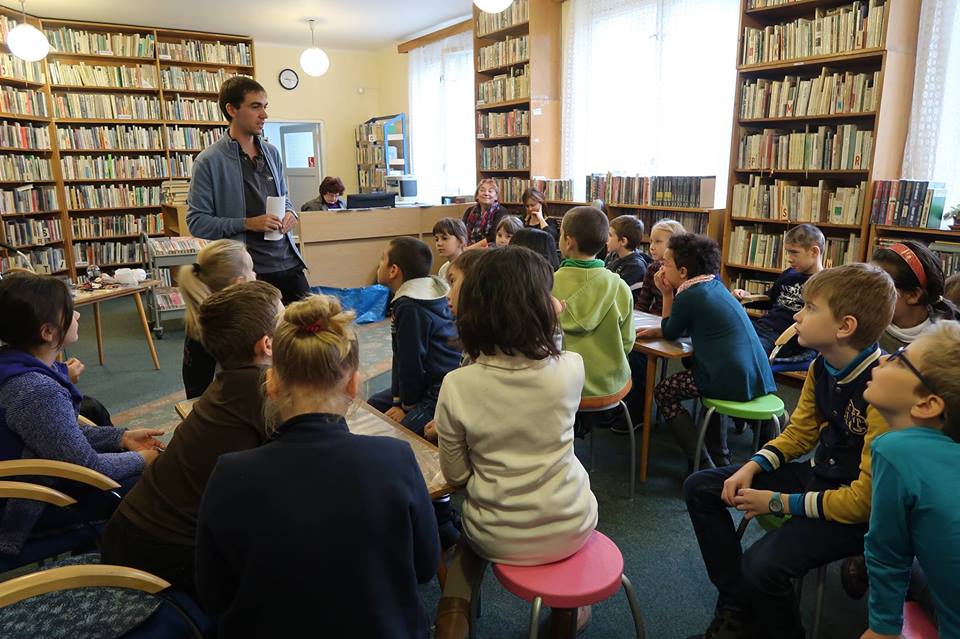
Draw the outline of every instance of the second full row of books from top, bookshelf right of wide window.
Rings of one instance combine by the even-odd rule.
[[[746,79],[740,87],[741,118],[793,118],[876,111],[880,72],[830,73],[783,80]]]

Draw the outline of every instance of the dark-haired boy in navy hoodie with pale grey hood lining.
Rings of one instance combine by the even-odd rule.
[[[444,375],[460,363],[447,284],[430,275],[432,264],[430,248],[404,236],[390,241],[377,268],[377,281],[393,292],[393,372],[390,390],[369,402],[418,435],[433,419]]]

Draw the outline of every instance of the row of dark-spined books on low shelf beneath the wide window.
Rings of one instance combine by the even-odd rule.
[[[609,204],[712,207],[717,188],[714,176],[641,176],[594,173],[587,176],[587,200]]]

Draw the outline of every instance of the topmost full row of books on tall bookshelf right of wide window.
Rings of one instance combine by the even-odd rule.
[[[744,27],[740,63],[763,64],[880,47],[885,6],[886,0],[858,0],[839,7],[818,7],[813,19]]]

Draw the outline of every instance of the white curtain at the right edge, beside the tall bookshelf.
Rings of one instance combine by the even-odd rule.
[[[960,8],[957,0],[923,0],[913,107],[903,177],[947,185],[947,206],[960,205]]]

